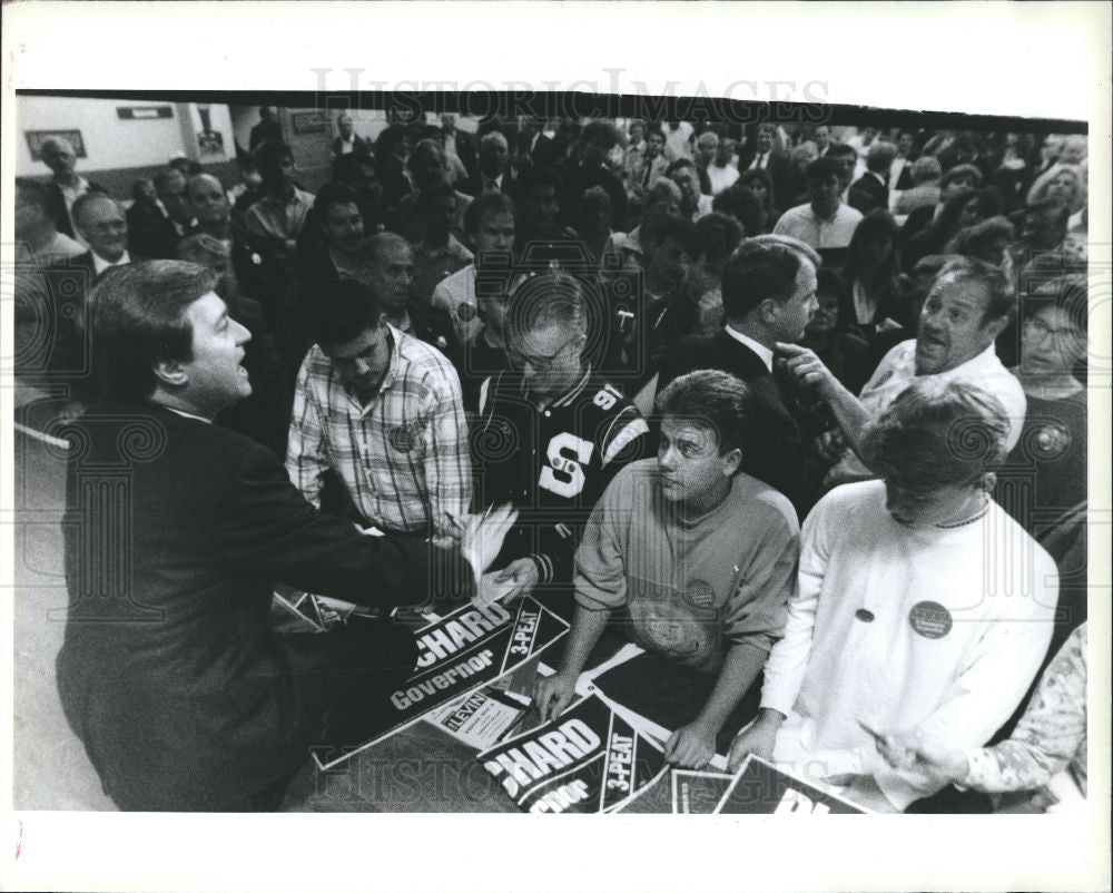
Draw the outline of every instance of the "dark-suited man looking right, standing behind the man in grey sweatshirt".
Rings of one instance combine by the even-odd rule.
[[[791,411],[792,394],[775,379],[774,351],[777,342],[799,341],[819,307],[817,259],[795,239],[742,242],[722,271],[726,327],[717,335],[684,338],[658,382],[660,392],[697,369],[719,369],[741,379],[752,410],[742,470],[780,490],[801,518],[809,508],[804,434]]]

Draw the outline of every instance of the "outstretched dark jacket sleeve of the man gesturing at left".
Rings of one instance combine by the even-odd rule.
[[[214,516],[213,536],[233,568],[382,608],[471,596],[471,566],[457,549],[363,536],[317,512],[268,451],[246,445]]]

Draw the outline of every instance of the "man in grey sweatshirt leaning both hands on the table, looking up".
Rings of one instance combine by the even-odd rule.
[[[726,372],[692,372],[658,398],[657,459],[627,465],[575,551],[575,615],[560,671],[539,680],[543,718],[572,699],[612,611],[644,648],[718,681],[699,716],[664,747],[700,768],[722,724],[780,637],[799,555],[796,512],[739,471],[747,392]]]

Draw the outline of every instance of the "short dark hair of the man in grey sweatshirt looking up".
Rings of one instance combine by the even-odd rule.
[[[659,415],[711,431],[719,442],[719,455],[739,449],[745,452],[749,404],[749,391],[739,379],[710,369],[681,375],[657,395]]]

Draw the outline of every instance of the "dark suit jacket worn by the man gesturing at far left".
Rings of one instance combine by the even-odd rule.
[[[76,429],[58,685],[122,808],[227,808],[306,759],[335,634],[303,661],[269,628],[275,581],[384,609],[470,589],[459,552],[318,513],[233,431],[118,403]]]

